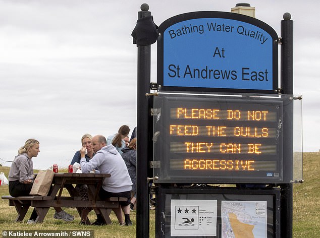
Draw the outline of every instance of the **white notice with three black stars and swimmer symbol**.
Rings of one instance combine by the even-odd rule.
[[[217,200],[171,200],[171,236],[216,236]]]

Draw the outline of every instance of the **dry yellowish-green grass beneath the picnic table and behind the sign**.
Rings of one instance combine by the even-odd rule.
[[[320,175],[318,173],[320,163],[320,153],[304,153],[303,154],[303,184],[293,186],[293,237],[294,238],[313,238],[320,237]],[[0,171],[4,172],[8,177],[9,167],[0,166]],[[65,192],[64,192],[65,193]],[[8,195],[8,186],[0,187],[0,195]],[[37,229],[37,230],[90,230],[94,229],[95,238],[102,237],[135,237],[136,234],[136,218],[135,211],[131,213],[133,226],[119,226],[117,218],[112,213],[112,225],[93,227],[79,225],[80,217],[74,208],[66,208],[65,210],[75,215],[72,222],[64,222],[53,218],[54,209],[50,208],[43,223],[27,225],[26,219],[30,217],[31,210],[28,211],[23,222],[14,222],[17,213],[14,207],[8,206],[7,200],[0,200],[0,225],[4,229]],[[95,215],[90,212],[89,218],[95,220]],[[155,212],[150,210],[150,237],[154,237]]]

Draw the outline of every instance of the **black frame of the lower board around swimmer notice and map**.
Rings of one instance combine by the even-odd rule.
[[[214,187],[164,187],[159,185],[157,187],[157,196],[159,196],[156,202],[156,214],[155,214],[155,224],[156,224],[156,238],[165,237],[189,237],[193,238],[195,236],[172,236],[171,235],[171,201],[172,199],[179,200],[217,200],[217,224],[212,224],[212,226],[217,226],[216,236],[196,236],[205,238],[221,238],[222,236],[222,214],[221,205],[222,201],[266,201],[267,210],[267,227],[266,227],[266,237],[267,238],[279,238],[280,237],[280,189],[264,189],[264,190],[239,190],[235,188],[214,188]],[[191,213],[191,211],[190,211]],[[188,215],[188,214],[186,214]],[[187,217],[187,216],[186,216]]]

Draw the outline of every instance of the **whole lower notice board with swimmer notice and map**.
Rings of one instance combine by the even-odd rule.
[[[280,237],[280,189],[158,187],[156,236]]]

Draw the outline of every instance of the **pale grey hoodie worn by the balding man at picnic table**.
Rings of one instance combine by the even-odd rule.
[[[110,173],[111,177],[104,178],[102,188],[111,193],[121,193],[131,191],[131,178],[119,152],[113,145],[102,147],[90,159],[81,158],[80,166],[83,173],[88,173],[93,169],[98,169],[100,173]]]

